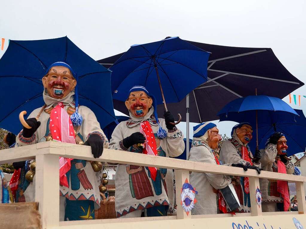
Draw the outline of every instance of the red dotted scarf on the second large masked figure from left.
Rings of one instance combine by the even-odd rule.
[[[140,130],[140,133],[142,133],[144,137],[146,138],[146,141],[144,142],[144,149],[142,152],[144,154],[157,156],[158,154],[157,154],[157,149],[156,149],[155,136],[151,128],[150,122],[145,121],[145,122],[140,123],[139,130]],[[152,180],[155,181],[156,175],[157,175],[157,168],[156,167],[148,167],[148,168],[151,173]]]

